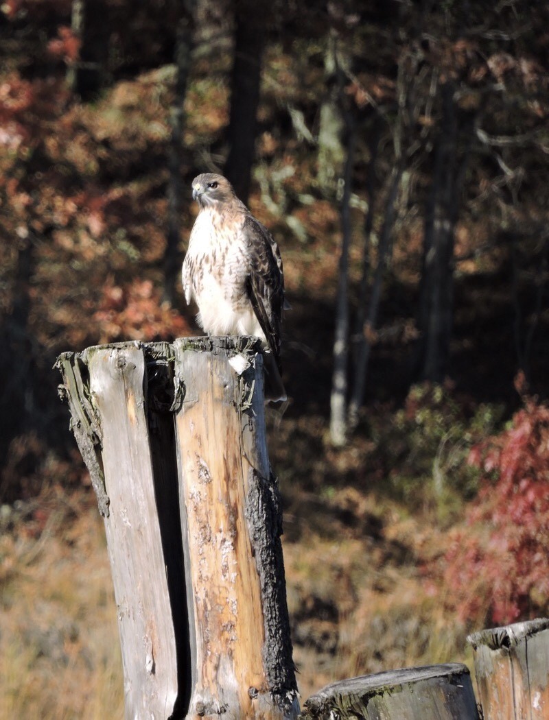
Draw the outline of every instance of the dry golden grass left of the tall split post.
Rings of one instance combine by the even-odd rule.
[[[123,715],[115,602],[97,510],[40,500],[0,544],[0,720]]]

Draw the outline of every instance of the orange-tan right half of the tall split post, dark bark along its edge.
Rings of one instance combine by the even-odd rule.
[[[262,365],[257,349],[251,352],[238,343],[231,347],[217,343],[217,338],[208,342],[212,341],[211,351],[201,353],[174,343],[175,374],[184,378],[186,387],[176,433],[187,588],[194,607],[195,673],[187,718],[295,718],[291,644],[290,652],[274,661],[277,674],[268,661],[266,602],[246,517],[261,516],[259,522],[269,527],[269,538],[278,539],[278,515],[269,508],[271,498],[256,494],[254,508],[250,506],[251,469],[269,478]],[[230,362],[235,354],[246,356],[248,361],[241,366],[251,374],[236,374]],[[246,438],[244,404],[244,413],[249,413],[244,424],[262,426]],[[271,518],[277,523],[274,528]],[[280,615],[284,613],[287,617],[285,608]],[[280,631],[289,632],[289,627]]]

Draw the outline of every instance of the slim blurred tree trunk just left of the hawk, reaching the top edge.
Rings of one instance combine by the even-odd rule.
[[[181,225],[182,181],[181,163],[184,130],[184,102],[192,63],[195,36],[196,0],[182,3],[182,16],[177,24],[175,44],[176,81],[174,102],[171,106],[171,137],[168,151],[168,231],[164,251],[164,293],[162,300],[174,305],[175,289],[182,258],[179,253],[179,226]]]

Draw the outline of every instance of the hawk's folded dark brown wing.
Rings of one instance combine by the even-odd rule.
[[[269,230],[252,215],[244,221],[244,235],[251,257],[246,292],[278,364],[284,307],[282,258]]]

